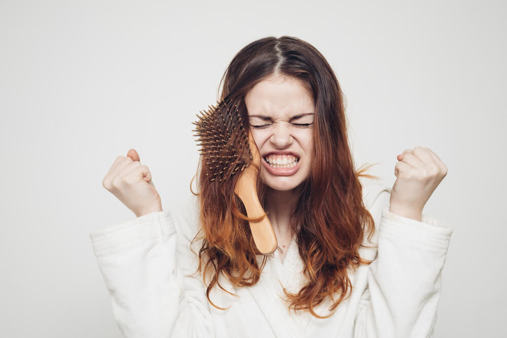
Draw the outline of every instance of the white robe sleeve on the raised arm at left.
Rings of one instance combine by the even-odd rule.
[[[174,217],[152,212],[90,233],[115,320],[127,338],[214,337],[200,274],[186,276],[198,262],[189,250],[196,209],[186,211]]]

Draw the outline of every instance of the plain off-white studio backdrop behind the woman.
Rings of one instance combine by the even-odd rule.
[[[103,176],[134,148],[177,206],[228,63],[292,35],[337,74],[357,166],[392,185],[421,145],[448,167],[424,209],[454,229],[434,336],[505,336],[506,7],[1,1],[0,335],[121,337],[88,233],[135,216]]]

